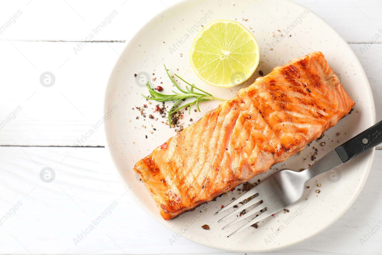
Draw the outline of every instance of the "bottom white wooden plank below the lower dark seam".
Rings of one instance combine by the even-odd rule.
[[[173,232],[148,216],[129,192],[125,193],[107,149],[22,149],[0,147],[0,169],[6,180],[0,186],[0,217],[18,201],[22,203],[1,225],[0,254],[221,254],[184,238],[171,245]],[[314,249],[322,254],[350,254],[354,250],[354,254],[379,254],[381,232],[363,246],[359,239],[382,220],[381,164],[382,151],[377,151],[363,191],[340,220],[307,243],[282,253],[315,254]],[[44,167],[55,171],[50,183],[39,177]],[[118,205],[111,214],[75,245],[77,234],[94,225],[92,220],[113,201]]]

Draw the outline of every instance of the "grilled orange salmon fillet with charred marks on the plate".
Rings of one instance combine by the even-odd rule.
[[[285,161],[354,105],[321,52],[275,67],[168,139],[134,171],[173,219]]]

